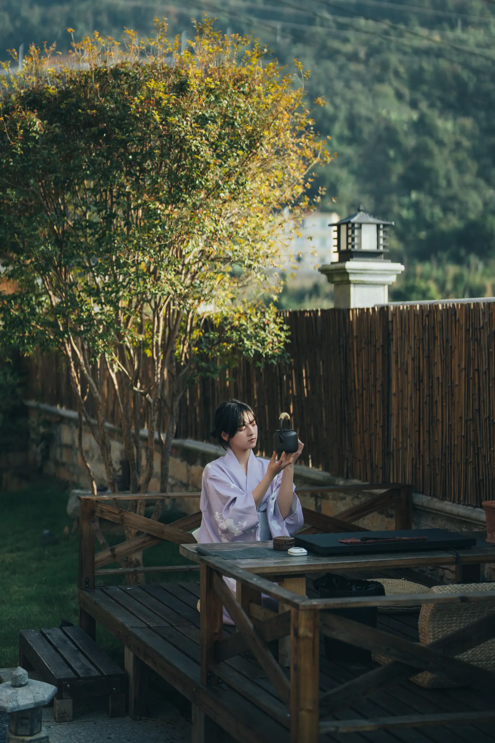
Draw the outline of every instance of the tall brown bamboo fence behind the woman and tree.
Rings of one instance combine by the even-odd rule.
[[[289,363],[246,360],[202,379],[182,400],[177,438],[212,441],[214,409],[240,398],[256,411],[271,454],[286,410],[305,443],[303,464],[363,481],[404,482],[479,506],[494,493],[495,303],[289,311]],[[29,396],[73,408],[60,357],[28,363]],[[117,424],[105,371],[105,415]],[[143,426],[145,420],[143,419]]]

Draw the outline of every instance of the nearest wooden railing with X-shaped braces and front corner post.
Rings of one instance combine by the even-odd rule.
[[[227,588],[223,577],[237,581],[237,597]],[[209,686],[225,681],[260,710],[289,728],[292,743],[317,743],[324,733],[361,733],[365,730],[399,729],[422,725],[476,723],[493,720],[495,710],[409,715],[377,719],[338,719],[327,721],[358,701],[410,678],[421,670],[440,673],[484,692],[495,691],[495,674],[459,660],[458,656],[495,637],[495,612],[469,626],[420,646],[411,640],[373,629],[340,617],[335,609],[377,606],[418,606],[425,603],[459,604],[495,600],[494,591],[463,593],[462,586],[453,594],[416,594],[350,599],[307,599],[281,588],[262,577],[235,567],[217,557],[200,560],[201,583],[201,682]],[[278,600],[287,607],[281,614],[260,606],[260,594]],[[240,595],[258,596],[248,603]],[[223,637],[222,607],[229,611],[237,633]],[[258,618],[257,618],[258,617]],[[387,665],[365,672],[330,691],[319,692],[320,633],[358,648],[391,658]],[[290,672],[278,664],[267,643],[290,637]],[[260,694],[245,676],[233,672],[225,661],[250,650],[269,679],[276,697]]]

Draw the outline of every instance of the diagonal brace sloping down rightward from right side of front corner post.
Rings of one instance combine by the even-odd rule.
[[[455,681],[468,682],[476,689],[495,690],[494,673],[459,658],[443,655],[431,647],[426,648],[397,635],[390,635],[388,632],[339,617],[337,614],[322,614],[320,625],[324,635],[335,637],[336,640],[380,653],[420,670],[441,673]]]

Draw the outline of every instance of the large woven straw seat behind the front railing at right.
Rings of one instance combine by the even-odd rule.
[[[430,588],[433,594],[451,594],[462,589],[463,593],[473,593],[473,591],[493,591],[494,583],[468,583],[463,585],[436,585]],[[461,629],[478,619],[482,619],[487,614],[495,611],[495,600],[487,603],[472,604],[424,604],[419,614],[419,642],[427,645],[433,640],[439,640],[440,637],[450,635],[456,629]],[[488,640],[467,652],[457,656],[462,661],[472,663],[473,666],[479,666],[490,671],[495,671],[495,639]],[[373,655],[377,663],[390,663],[390,658]],[[450,681],[448,678],[423,671],[412,678],[416,684],[427,689],[452,689],[453,687],[462,687],[460,682]]]

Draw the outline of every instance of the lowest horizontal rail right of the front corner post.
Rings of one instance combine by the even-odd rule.
[[[486,712],[454,712],[433,715],[404,715],[401,717],[378,717],[374,720],[335,720],[321,722],[321,735],[332,733],[362,733],[365,730],[398,730],[401,727],[425,727],[429,725],[477,724],[495,718],[495,710]]]

